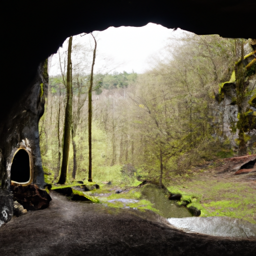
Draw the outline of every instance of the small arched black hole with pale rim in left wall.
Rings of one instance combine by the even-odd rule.
[[[25,148],[18,148],[14,153],[10,168],[11,184],[28,185],[32,182],[32,167],[30,152]]]

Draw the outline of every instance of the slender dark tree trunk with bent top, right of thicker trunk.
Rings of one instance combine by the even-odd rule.
[[[92,170],[92,157],[91,157],[91,121],[92,121],[92,106],[91,106],[91,94],[92,94],[92,84],[93,84],[93,66],[95,63],[95,57],[96,57],[96,47],[97,42],[95,40],[95,37],[92,33],[90,33],[94,39],[94,50],[93,50],[93,58],[92,58],[92,64],[91,64],[91,72],[90,72],[90,86],[88,90],[88,145],[89,145],[89,166],[88,166],[88,181],[92,181],[91,177],[91,170]]]

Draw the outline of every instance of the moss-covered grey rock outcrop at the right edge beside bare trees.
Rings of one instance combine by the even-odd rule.
[[[238,145],[238,131],[244,132],[246,147],[254,151],[256,147],[256,50],[254,46],[255,39],[250,39],[250,52],[244,56],[244,81],[242,92],[238,92],[237,82],[239,73],[237,66],[241,59],[235,62],[235,67],[229,81],[219,84],[218,94],[215,95],[217,103],[212,109],[212,115],[215,116],[216,123],[221,123],[223,137],[227,137],[234,148]],[[240,93],[240,94],[239,94]],[[241,112],[238,112],[238,99]],[[243,117],[242,117],[243,116]],[[254,148],[253,148],[254,147]]]

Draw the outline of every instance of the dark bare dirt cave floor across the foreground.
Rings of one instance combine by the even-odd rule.
[[[0,227],[0,255],[254,255],[256,240],[188,234],[151,212],[74,202],[50,192],[43,210]]]

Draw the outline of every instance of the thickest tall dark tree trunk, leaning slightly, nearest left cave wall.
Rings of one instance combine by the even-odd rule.
[[[72,63],[71,63],[72,36],[69,37],[67,51],[67,71],[66,71],[66,107],[63,132],[63,147],[62,147],[62,163],[60,169],[59,184],[66,182],[66,173],[68,167],[68,154],[70,144],[70,129],[72,122]]]

